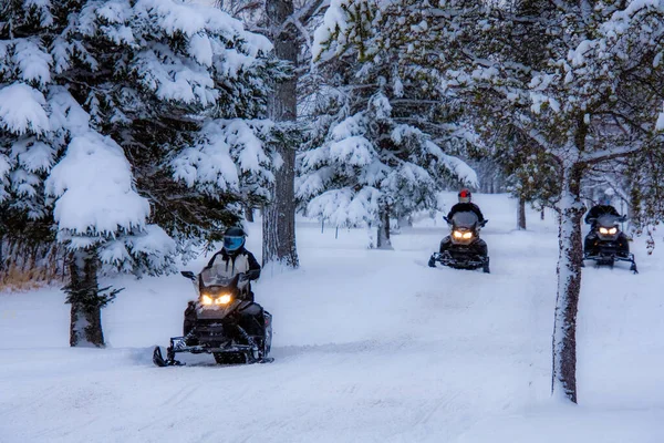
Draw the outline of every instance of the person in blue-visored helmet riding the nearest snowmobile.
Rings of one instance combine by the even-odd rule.
[[[224,247],[212,256],[207,266],[201,270],[214,271],[221,277],[235,277],[240,274],[239,287],[245,299],[253,301],[253,292],[249,281],[260,277],[260,265],[249,250],[245,248],[247,233],[240,227],[231,227],[224,233]],[[242,311],[242,323],[250,334],[262,334],[262,309],[259,305],[251,303]],[[196,322],[196,303],[189,302],[185,310],[184,334],[186,336]],[[253,331],[253,333],[252,333]]]

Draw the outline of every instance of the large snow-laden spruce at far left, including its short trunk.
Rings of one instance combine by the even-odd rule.
[[[228,14],[175,0],[0,7],[2,231],[81,253],[72,323],[74,305],[108,301],[95,298],[97,262],[174,270],[183,245],[264,198],[279,159],[261,120],[280,76],[270,50]]]

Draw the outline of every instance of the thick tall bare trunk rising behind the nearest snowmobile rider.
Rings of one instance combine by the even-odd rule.
[[[294,130],[298,117],[297,85],[294,73],[298,65],[299,44],[293,24],[284,25],[293,13],[292,0],[267,0],[266,2],[270,37],[276,55],[293,66],[293,76],[276,85],[270,100],[270,117],[280,124],[288,135]],[[291,127],[288,127],[289,124]],[[284,136],[277,145],[283,164],[274,175],[271,202],[266,206],[263,217],[263,265],[278,261],[288,267],[299,266],[295,248],[295,146]]]

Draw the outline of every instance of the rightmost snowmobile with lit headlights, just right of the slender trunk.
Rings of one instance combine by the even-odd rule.
[[[634,254],[630,253],[627,237],[620,230],[619,223],[625,222],[625,216],[604,214],[593,219],[591,233],[585,238],[583,259],[593,260],[598,266],[613,268],[615,261],[632,264],[630,270],[639,274]]]

